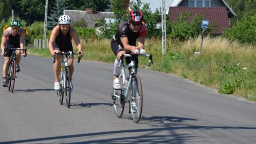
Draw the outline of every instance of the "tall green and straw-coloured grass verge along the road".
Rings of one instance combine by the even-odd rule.
[[[146,39],[146,52],[153,54],[154,64],[150,69],[181,76],[217,89],[219,93],[256,101],[256,49],[252,45],[208,36],[204,38],[201,54],[194,55],[200,51],[201,37],[190,38],[185,42],[167,39],[167,42],[167,51],[163,56],[161,38]],[[82,45],[82,60],[104,63],[113,63],[115,60],[110,40],[82,41]],[[50,57],[48,49],[29,49],[27,52]],[[142,61],[143,58],[139,58],[139,66],[144,68],[148,60]]]

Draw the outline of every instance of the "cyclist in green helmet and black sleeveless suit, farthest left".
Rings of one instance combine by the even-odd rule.
[[[12,54],[12,50],[7,48],[20,48],[24,49],[25,43],[25,30],[20,27],[21,22],[18,19],[13,19],[10,22],[10,27],[5,29],[3,32],[2,40],[1,40],[1,55],[4,55],[4,64],[3,64],[3,83],[2,86],[7,86],[7,72],[8,66],[10,63],[10,56]],[[7,47],[7,48],[6,48]],[[26,56],[24,51],[16,51],[16,72],[19,72],[19,62],[22,56]]]

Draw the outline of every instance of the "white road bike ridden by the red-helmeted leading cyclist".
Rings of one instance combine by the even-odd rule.
[[[153,64],[152,54],[139,54],[138,56],[144,56],[149,58],[148,67]],[[126,57],[131,58],[131,63],[125,64]],[[143,93],[142,84],[140,78],[136,72],[135,54],[122,54],[120,56],[119,66],[121,68],[121,74],[119,75],[119,81],[121,83],[121,89],[114,89],[112,92],[112,99],[114,100],[114,109],[117,117],[122,117],[124,112],[125,103],[129,102],[129,113],[135,123],[138,123],[142,114],[143,105]],[[131,69],[129,77],[126,77],[126,70]]]

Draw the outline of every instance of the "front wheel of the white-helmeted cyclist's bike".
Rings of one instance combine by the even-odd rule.
[[[66,96],[66,107],[70,107],[71,87],[70,87],[70,74],[69,67],[65,67],[65,96]]]

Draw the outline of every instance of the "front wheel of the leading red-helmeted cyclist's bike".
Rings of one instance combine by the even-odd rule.
[[[135,102],[135,106],[132,105],[132,102]],[[142,85],[140,78],[137,74],[134,74],[132,80],[132,96],[130,99],[130,110],[132,119],[135,123],[138,123],[142,114],[142,104],[143,104],[143,95],[142,95]],[[135,111],[133,111],[135,107]]]

